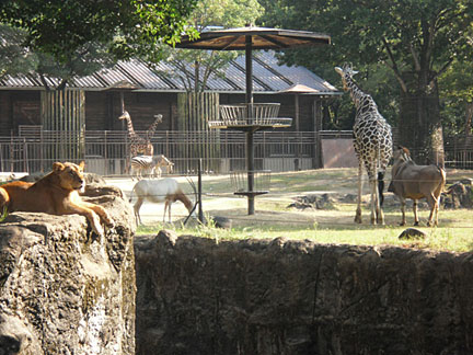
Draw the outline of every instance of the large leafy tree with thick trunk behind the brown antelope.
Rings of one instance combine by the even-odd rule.
[[[438,78],[455,56],[471,55],[466,36],[473,20],[471,0],[262,2],[266,23],[332,35],[328,50],[318,56],[305,50],[299,58],[285,55],[288,62],[320,67],[324,61],[333,67],[349,61],[390,68],[400,89],[400,142],[414,148],[419,160],[436,161],[442,149]]]

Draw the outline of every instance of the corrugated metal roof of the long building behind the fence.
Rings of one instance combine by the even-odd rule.
[[[210,77],[207,89],[244,93],[244,68],[245,58],[240,56],[230,62],[223,78]],[[155,69],[151,69],[143,61],[132,59],[120,61],[115,67],[103,69],[92,76],[74,78],[68,85],[86,90],[104,90],[116,82],[127,81],[139,87],[139,91],[184,91],[184,84],[178,78],[180,72],[169,62],[160,62]],[[46,80],[51,87],[59,83],[54,78],[46,78]],[[335,87],[303,67],[279,65],[272,50],[253,53],[253,92],[277,93],[298,83],[315,89],[320,94],[338,93]],[[0,89],[41,89],[42,87],[41,80],[32,76],[5,76],[0,80]]]

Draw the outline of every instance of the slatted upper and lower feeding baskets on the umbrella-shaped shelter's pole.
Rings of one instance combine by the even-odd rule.
[[[269,128],[290,127],[292,118],[278,117],[279,103],[244,103],[220,105],[220,117],[210,121],[209,128],[234,129],[246,133],[246,171],[231,174],[235,195],[249,201],[249,215],[255,214],[254,199],[269,192],[270,171],[254,170],[253,134]]]

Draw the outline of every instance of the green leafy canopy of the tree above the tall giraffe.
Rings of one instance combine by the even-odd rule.
[[[397,84],[389,80],[392,87],[380,91],[383,95],[428,94],[435,91],[438,76],[453,58],[472,55],[471,0],[261,0],[261,3],[265,8],[262,24],[332,36],[330,47],[286,51],[286,62],[305,66],[331,82],[339,82],[333,71],[335,65],[348,61],[357,69],[370,70],[385,66]]]

